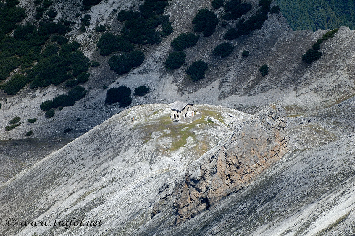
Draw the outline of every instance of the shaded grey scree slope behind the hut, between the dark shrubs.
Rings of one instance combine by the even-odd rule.
[[[236,21],[230,21],[226,28],[218,24],[211,37],[204,38],[201,34],[197,44],[185,51],[188,65],[199,59],[208,63],[204,79],[189,81],[185,73],[188,65],[174,71],[166,70],[164,64],[172,50],[171,40],[182,32],[192,31],[192,18],[203,7],[211,9],[211,1],[169,1],[165,14],[170,15],[174,32],[164,38],[162,43],[143,48],[146,56],[144,63],[119,76],[109,70],[108,57],[100,56],[96,50],[95,44],[100,33],[94,27],[106,24],[110,26],[108,32],[120,34],[122,23],[116,18],[118,11],[137,10],[140,4],[141,1],[102,1],[89,11],[82,12],[91,16],[91,25],[84,33],[80,31],[80,19],[75,17],[82,6],[81,1],[58,1],[50,6],[50,9],[58,11],[54,21],[59,21],[65,15],[69,20],[77,22],[68,37],[80,42],[81,49],[90,59],[100,61],[100,66],[90,69],[91,77],[85,84],[88,89],[86,97],[75,106],[57,111],[52,119],[44,118],[39,105],[66,91],[64,86],[24,88],[16,96],[5,96],[0,92],[0,127],[3,127],[0,136],[3,139],[23,138],[28,130],[33,130],[34,137],[51,136],[62,133],[65,128],[74,128],[73,132],[82,134],[121,110],[116,105],[104,105],[106,90],[102,87],[117,87],[117,82],[131,89],[141,85],[151,88],[152,92],[147,98],[133,96],[132,106],[169,103],[180,99],[192,103],[221,104],[250,113],[280,101],[288,114],[308,114],[354,95],[354,32],[347,27],[340,28],[334,38],[322,44],[321,59],[306,65],[301,60],[302,54],[326,31],[293,31],[285,18],[278,14],[269,14],[260,30],[235,40],[225,40],[223,35]],[[247,13],[246,18],[258,10],[257,1],[252,1],[252,4],[253,9]],[[32,21],[33,2],[22,0],[21,5],[26,6],[26,20]],[[213,11],[219,18],[223,14],[222,9]],[[223,59],[212,55],[214,47],[222,42],[235,46],[233,53]],[[242,57],[243,50],[249,50],[250,56]],[[258,72],[263,64],[269,66],[269,73],[265,77]],[[4,102],[5,98],[7,103]],[[38,121],[5,132],[4,127],[14,116],[20,116],[22,121],[37,117]],[[77,122],[77,118],[81,118],[81,121]]]

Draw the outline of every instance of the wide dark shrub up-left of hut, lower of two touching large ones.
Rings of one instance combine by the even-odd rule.
[[[110,69],[122,75],[129,72],[133,67],[141,65],[144,61],[144,54],[141,51],[131,51],[119,56],[111,56],[108,60]]]

